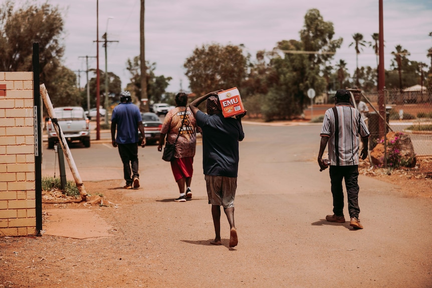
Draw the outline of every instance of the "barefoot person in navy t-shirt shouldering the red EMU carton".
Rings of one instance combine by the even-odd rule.
[[[220,90],[222,91],[222,90]],[[211,204],[214,232],[213,245],[221,242],[221,206],[224,207],[230,223],[230,247],[238,243],[237,229],[234,224],[234,198],[237,189],[239,168],[239,141],[245,138],[241,118],[225,118],[219,103],[218,92],[210,92],[195,99],[189,108],[202,130],[202,166],[207,186],[208,203]],[[198,109],[206,101],[207,114]]]

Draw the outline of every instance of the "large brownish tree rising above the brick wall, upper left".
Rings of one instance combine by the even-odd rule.
[[[55,99],[63,93],[53,84],[64,70],[61,67],[64,23],[60,10],[47,2],[26,2],[17,9],[15,6],[15,2],[9,0],[0,6],[0,70],[32,71],[32,42],[38,42],[40,80]],[[73,90],[72,87],[63,88]]]

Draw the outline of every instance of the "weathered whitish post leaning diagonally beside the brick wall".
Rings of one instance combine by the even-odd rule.
[[[54,129],[57,132],[57,137],[59,138],[60,146],[62,146],[63,153],[66,156],[66,160],[68,161],[69,167],[71,168],[71,172],[74,177],[75,183],[78,187],[78,190],[80,191],[81,201],[86,201],[87,200],[86,188],[84,187],[83,181],[81,181],[80,173],[78,172],[78,169],[75,166],[75,161],[74,158],[72,157],[71,150],[69,150],[68,142],[66,141],[65,135],[63,134],[63,131],[60,128],[56,113],[54,112],[53,104],[51,103],[50,96],[48,95],[47,88],[45,88],[45,84],[40,85],[40,91],[41,91],[42,99],[44,100],[44,104],[47,107],[48,115],[50,115]]]

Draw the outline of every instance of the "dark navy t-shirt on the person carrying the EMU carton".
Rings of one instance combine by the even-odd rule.
[[[202,167],[205,175],[237,177],[239,141],[245,138],[240,122],[222,114],[196,113],[202,129]]]

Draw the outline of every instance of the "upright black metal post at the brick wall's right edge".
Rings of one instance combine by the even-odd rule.
[[[42,100],[39,90],[39,43],[33,43],[33,114],[35,128],[35,195],[36,195],[36,230],[42,231]]]

